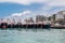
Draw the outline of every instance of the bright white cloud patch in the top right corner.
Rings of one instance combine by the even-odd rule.
[[[48,5],[51,5],[51,6],[65,6],[65,0],[50,0],[50,1],[48,1]]]

